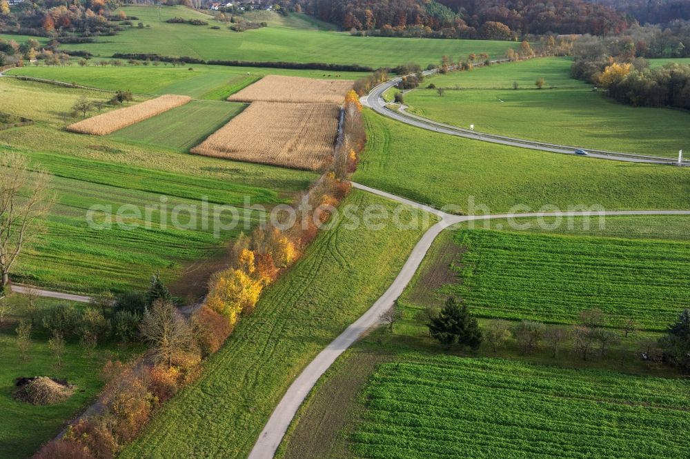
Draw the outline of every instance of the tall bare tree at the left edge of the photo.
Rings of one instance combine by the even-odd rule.
[[[50,176],[30,172],[24,156],[3,154],[0,163],[0,289],[10,283],[10,272],[22,247],[41,232],[40,218],[52,204]]]

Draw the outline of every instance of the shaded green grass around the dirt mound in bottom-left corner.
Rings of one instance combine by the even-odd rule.
[[[101,367],[108,358],[126,360],[137,349],[121,348],[113,343],[99,345],[88,357],[77,343],[67,343],[63,365],[55,367],[55,358],[48,349],[48,336],[37,324],[32,330],[29,360],[21,360],[14,329],[19,319],[26,318],[26,299],[10,296],[12,309],[0,324],[0,451],[6,458],[26,458],[63,427],[66,420],[81,414],[81,410],[97,396],[103,385],[99,378]],[[57,300],[39,298],[39,312],[51,305],[65,304]],[[139,349],[140,351],[141,349]],[[20,377],[50,376],[64,378],[77,386],[75,394],[57,405],[34,406],[12,398],[14,380]]]

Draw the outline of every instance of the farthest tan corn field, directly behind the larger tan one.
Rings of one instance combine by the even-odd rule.
[[[233,102],[342,103],[352,80],[319,80],[300,76],[268,75],[228,97]]]

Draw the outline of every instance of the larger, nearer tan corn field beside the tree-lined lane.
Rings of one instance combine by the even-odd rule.
[[[334,103],[255,102],[192,153],[319,170],[333,157]]]

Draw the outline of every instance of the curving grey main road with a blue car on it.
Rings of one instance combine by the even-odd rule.
[[[430,75],[435,73],[435,70],[426,70],[423,72],[424,75]],[[541,150],[542,152],[560,153],[560,154],[575,154],[575,150],[581,147],[569,146],[569,145],[558,145],[556,143],[531,141],[526,139],[517,139],[515,137],[501,136],[497,134],[487,134],[486,132],[477,132],[469,129],[458,128],[457,126],[439,123],[438,121],[433,121],[423,116],[418,116],[415,114],[408,113],[403,110],[391,110],[386,108],[386,101],[383,99],[383,93],[386,90],[393,88],[400,82],[400,77],[394,78],[392,80],[386,81],[376,86],[369,92],[368,95],[363,96],[360,101],[362,105],[371,108],[378,114],[382,114],[395,121],[400,121],[417,128],[426,129],[433,132],[439,132],[441,134],[448,134],[451,136],[464,137],[466,139],[473,139],[482,142],[499,143],[501,145],[510,145],[512,147],[529,148],[531,150]],[[677,165],[677,159],[662,158],[660,156],[645,156],[640,154],[629,154],[622,152],[609,152],[606,150],[593,150],[586,149],[589,155],[586,158],[595,159],[609,159],[613,161],[628,161],[632,163],[653,163],[653,164],[666,164],[666,165]],[[690,166],[690,161],[684,160],[682,162],[684,166]]]

